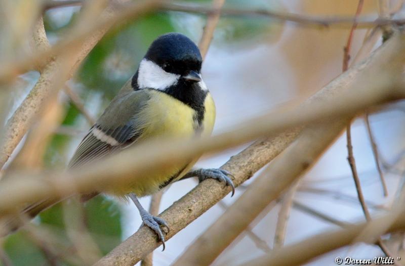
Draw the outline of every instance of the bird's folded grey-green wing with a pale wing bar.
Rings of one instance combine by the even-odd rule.
[[[149,100],[146,91],[118,94],[77,147],[68,168],[100,159],[133,143],[143,124],[137,118]]]

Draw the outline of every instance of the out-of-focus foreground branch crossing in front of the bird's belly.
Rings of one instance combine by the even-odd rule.
[[[400,43],[399,39],[401,38],[402,35],[398,34],[395,41],[389,42],[390,45],[388,45],[388,47],[395,51],[401,50],[401,47],[398,45],[398,43]],[[398,72],[400,72],[399,68],[401,67],[401,60],[403,60],[403,58],[396,56],[390,59],[390,64],[387,64],[385,60],[391,58],[390,56],[391,55],[387,55],[384,59],[377,55],[374,57],[373,60],[378,61],[378,63],[376,63],[377,65],[383,64],[386,67],[383,68],[384,71],[372,68],[374,72],[380,73],[377,80],[374,73],[366,72],[370,75],[368,79],[373,81],[371,86],[367,84],[367,86],[363,87],[363,84],[360,82],[357,90],[354,90],[354,92],[345,92],[343,88],[341,88],[341,97],[336,99],[326,97],[323,93],[320,93],[298,109],[286,111],[285,108],[280,108],[281,111],[269,112],[255,119],[242,121],[239,126],[234,127],[233,131],[226,132],[217,137],[203,138],[198,141],[189,142],[172,141],[171,144],[163,142],[161,144],[148,145],[145,143],[137,145],[136,147],[134,146],[132,149],[126,149],[126,151],[121,152],[119,155],[95,163],[92,166],[85,167],[80,171],[73,171],[69,174],[54,173],[53,176],[55,176],[55,179],[51,181],[43,182],[27,178],[24,184],[11,182],[8,184],[8,186],[11,186],[10,188],[14,187],[16,191],[20,192],[23,190],[24,193],[10,193],[14,191],[12,189],[0,193],[0,197],[3,198],[4,196],[5,199],[4,201],[0,200],[0,212],[10,211],[23,202],[42,199],[45,195],[58,196],[59,194],[66,195],[74,193],[77,191],[77,188],[72,188],[72,184],[78,186],[83,193],[93,191],[97,185],[99,185],[100,190],[104,190],[108,187],[107,185],[112,184],[111,182],[119,184],[127,182],[128,180],[135,180],[136,177],[132,176],[134,169],[140,171],[140,173],[150,172],[151,169],[159,170],[159,167],[156,167],[156,165],[163,167],[161,165],[169,163],[168,160],[170,160],[170,163],[182,163],[183,160],[199,156],[204,152],[220,151],[262,136],[268,136],[270,133],[275,134],[276,132],[281,132],[282,130],[297,125],[301,126],[319,119],[350,115],[353,112],[364,111],[372,105],[400,98],[402,95],[398,95],[398,92],[393,91],[393,88],[400,85],[395,83],[395,81],[397,81],[397,77],[399,76]],[[364,67],[365,64],[370,64],[369,60],[360,64],[352,75],[359,72],[361,67]],[[394,66],[397,66],[397,68],[393,68]],[[333,83],[335,83],[335,81]],[[369,90],[369,87],[374,88],[374,90]],[[381,90],[381,87],[385,89]],[[374,93],[370,93],[370,91]],[[333,92],[330,93],[333,94]],[[359,98],[361,98],[361,100],[358,100]],[[296,133],[297,131],[293,130],[288,133],[285,132],[284,135],[291,136]],[[274,141],[276,144],[284,145],[281,142],[286,141],[286,139],[284,137],[278,137],[278,140]],[[291,139],[289,139],[289,141],[291,141]],[[165,153],[163,153],[163,149],[166,149]],[[173,156],[173,154],[176,154],[176,156]],[[117,158],[119,158],[118,164],[116,161]],[[139,160],[134,163],[134,158]],[[122,167],[116,167],[116,165]],[[114,169],[114,174],[116,175],[113,181],[110,179],[111,169]],[[49,175],[46,174],[45,176]],[[34,186],[35,189],[30,188],[28,183]],[[58,189],[55,190],[56,188]]]

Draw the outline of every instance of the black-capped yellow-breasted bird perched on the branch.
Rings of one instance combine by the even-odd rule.
[[[121,88],[103,114],[90,128],[71,158],[68,169],[100,160],[130,145],[146,140],[210,136],[216,109],[201,77],[203,59],[187,36],[171,32],[157,37],[140,61],[138,70]],[[112,186],[107,193],[130,198],[138,208],[143,224],[163,243],[166,221],[152,216],[138,198],[151,195],[169,184],[192,176],[200,182],[216,179],[232,188],[233,175],[224,169],[195,169],[198,158],[168,167],[158,174],[137,178],[134,183]],[[88,200],[98,192],[84,195]],[[48,199],[25,208],[31,217],[56,203]],[[162,227],[162,228],[161,228]]]

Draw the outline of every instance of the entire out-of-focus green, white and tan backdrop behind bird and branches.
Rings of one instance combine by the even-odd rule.
[[[388,2],[395,12],[394,17],[403,18],[402,1]],[[24,1],[15,3],[23,5]],[[210,5],[211,1],[187,3]],[[353,16],[357,3],[353,0],[228,0],[224,7],[337,17]],[[64,7],[45,13],[45,29],[51,44],[63,36],[65,29],[75,21],[79,10],[80,7]],[[379,1],[366,0],[361,14],[373,19],[378,17],[378,11]],[[97,118],[119,88],[135,73],[153,39],[163,33],[176,31],[198,43],[205,22],[206,17],[203,15],[158,12],[113,28],[92,50],[67,85],[79,95],[89,116]],[[263,111],[292,100],[302,101],[303,97],[311,95],[338,76],[342,72],[343,48],[349,31],[350,27],[308,27],[263,17],[221,17],[202,70],[217,106],[214,135]],[[367,29],[355,31],[352,58],[359,51],[366,35],[371,33],[372,30]],[[381,42],[382,38],[378,37],[371,46],[376,48]],[[39,74],[34,71],[20,76],[12,91],[8,116],[21,104],[38,77]],[[41,156],[37,156],[33,163],[33,167],[38,169],[63,169],[91,126],[66,93],[61,91],[58,99],[52,112],[56,126],[43,152],[39,152]],[[400,186],[400,177],[405,169],[405,143],[402,137],[405,134],[404,111],[405,106],[398,103],[370,116],[387,182],[387,197],[382,192],[363,118],[358,118],[352,125],[357,170],[372,214],[388,208]],[[24,141],[20,147],[23,143]],[[196,166],[220,167],[231,155],[245,147],[227,150],[218,156],[206,156]],[[18,156],[13,156],[16,157],[18,159]],[[323,231],[337,229],[345,223],[365,220],[346,157],[346,137],[343,135],[302,178],[294,196],[285,245]],[[250,182],[251,180],[238,188],[233,198],[226,196],[220,204],[170,239],[164,252],[159,249],[154,251],[154,265],[168,265],[173,262],[199,234],[210,227]],[[173,184],[163,195],[160,211],[196,184],[194,180]],[[141,199],[145,207],[149,205],[149,201],[149,197]],[[68,201],[64,204],[72,203]],[[59,242],[56,245],[64,256],[69,256],[74,251],[71,250],[66,233],[62,206],[63,204],[58,204],[44,211],[35,218],[34,223],[44,225],[58,236]],[[102,254],[136,232],[141,224],[141,218],[133,204],[108,196],[97,196],[86,203],[84,210],[90,235]],[[214,265],[234,265],[272,249],[278,210],[279,204],[269,206],[251,225],[250,232],[234,241]],[[405,255],[402,249],[403,237],[388,236],[384,241],[393,254]],[[13,265],[50,263],[44,253],[46,250],[33,241],[26,231],[7,237],[3,247]],[[334,258],[338,255],[372,258],[382,255],[382,251],[373,245],[355,245],[330,252],[307,265],[335,265]],[[73,265],[79,262],[62,259],[57,263],[55,265]]]

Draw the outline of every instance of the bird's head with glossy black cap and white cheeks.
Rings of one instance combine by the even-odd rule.
[[[178,83],[191,85],[201,81],[202,62],[198,47],[192,40],[181,33],[167,33],[152,42],[133,83],[139,89],[161,91]]]

